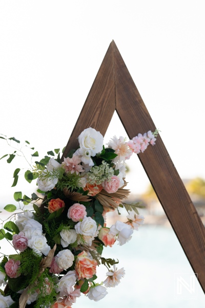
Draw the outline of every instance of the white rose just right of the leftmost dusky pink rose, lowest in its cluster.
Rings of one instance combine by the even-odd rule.
[[[43,235],[32,236],[30,240],[28,240],[28,246],[33,249],[37,254],[44,254],[45,256],[51,250],[51,247],[47,244],[47,239]]]

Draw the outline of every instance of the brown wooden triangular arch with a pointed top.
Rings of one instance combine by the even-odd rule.
[[[112,41],[63,157],[67,157],[70,149],[77,148],[77,137],[85,128],[95,128],[105,135],[115,110],[130,139],[138,132],[155,130],[150,114]],[[148,147],[138,157],[205,292],[205,228],[160,136],[154,149]]]

